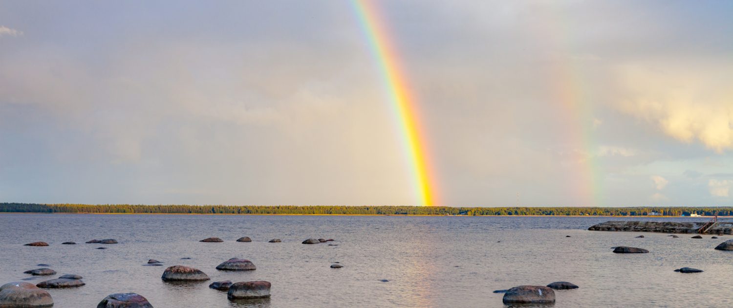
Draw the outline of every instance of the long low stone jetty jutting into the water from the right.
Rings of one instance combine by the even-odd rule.
[[[705,221],[605,221],[589,227],[588,230],[697,233],[704,224]],[[712,234],[733,234],[733,222],[715,222],[705,232]]]

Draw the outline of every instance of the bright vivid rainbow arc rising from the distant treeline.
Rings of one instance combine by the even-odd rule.
[[[422,205],[432,206],[435,202],[435,186],[428,164],[426,142],[417,111],[417,105],[410,93],[405,74],[399,67],[399,56],[386,31],[386,23],[377,14],[372,1],[353,0],[354,11],[367,36],[369,47],[383,74],[385,86],[394,111],[399,119],[405,150],[410,161],[410,172],[415,178],[416,195]]]

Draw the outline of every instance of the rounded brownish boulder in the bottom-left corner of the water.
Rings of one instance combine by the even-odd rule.
[[[0,307],[51,307],[54,298],[32,283],[10,282],[0,286]]]

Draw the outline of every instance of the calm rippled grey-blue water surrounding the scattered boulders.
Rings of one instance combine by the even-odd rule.
[[[96,307],[119,292],[139,293],[156,308],[504,307],[503,294],[493,290],[556,281],[581,288],[556,291],[554,307],[733,307],[733,252],[713,249],[732,236],[586,230],[606,220],[0,214],[0,282],[29,278],[23,271],[37,263],[50,264],[59,275],[84,276],[84,287],[49,291],[54,307]],[[640,234],[646,238],[634,238]],[[225,242],[199,243],[211,236]],[[253,242],[235,242],[242,236]],[[93,238],[116,238],[119,244],[84,243]],[[282,243],[267,243],[272,238]],[[301,244],[306,238],[334,238],[338,246]],[[22,246],[32,241],[51,246]],[[79,244],[61,245],[64,241]],[[611,246],[619,245],[650,253],[612,253]],[[95,249],[99,246],[108,249]],[[252,260],[257,270],[215,269],[231,257]],[[161,281],[166,266],[142,266],[148,259],[199,268],[210,282],[267,280],[272,297],[232,302],[226,293],[209,289],[210,282],[171,285]],[[345,267],[329,268],[334,261]],[[673,271],[684,266],[705,272]]]

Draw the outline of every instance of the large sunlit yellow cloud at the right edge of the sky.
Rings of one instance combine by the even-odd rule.
[[[679,141],[697,140],[723,153],[733,149],[733,106],[723,84],[728,71],[715,62],[622,65],[619,77],[629,97],[618,106]]]

